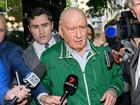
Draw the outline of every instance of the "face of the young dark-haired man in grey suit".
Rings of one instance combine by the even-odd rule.
[[[48,20],[48,16],[45,14],[31,19],[28,28],[34,40],[40,44],[49,42],[52,37],[53,23]]]

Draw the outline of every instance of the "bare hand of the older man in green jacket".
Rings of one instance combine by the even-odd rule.
[[[101,102],[104,102],[104,105],[115,105],[117,101],[117,95],[113,90],[108,90],[103,95]]]

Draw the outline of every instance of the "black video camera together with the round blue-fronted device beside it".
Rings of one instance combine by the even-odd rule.
[[[111,49],[119,51],[124,47],[121,40],[140,37],[140,23],[131,11],[121,12],[119,21],[112,20],[105,28],[106,41]]]

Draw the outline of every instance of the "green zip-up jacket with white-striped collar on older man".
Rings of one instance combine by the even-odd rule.
[[[67,105],[103,105],[100,99],[108,89],[113,89],[117,95],[122,93],[122,69],[116,64],[108,69],[105,63],[104,52],[110,49],[95,47],[92,42],[90,47],[84,72],[66,49],[63,40],[42,54],[41,62],[47,70],[43,85],[50,95],[63,95],[63,84],[70,74],[77,75],[79,82],[75,94],[68,97]]]

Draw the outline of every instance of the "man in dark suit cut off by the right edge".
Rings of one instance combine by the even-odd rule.
[[[140,0],[126,1],[126,4],[140,22]],[[134,56],[131,60],[130,70],[128,71],[131,82],[131,102],[132,105],[140,105],[140,33],[131,37],[131,42],[136,47]]]

